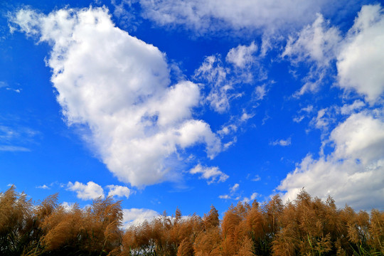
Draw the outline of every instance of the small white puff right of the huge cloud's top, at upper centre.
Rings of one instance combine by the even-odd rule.
[[[252,42],[250,46],[239,45],[236,48],[230,49],[225,60],[238,68],[245,68],[246,66],[255,63],[255,56],[253,54],[256,51],[257,46],[255,45],[255,42]]]

